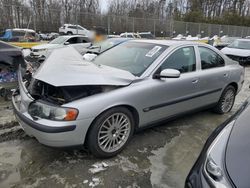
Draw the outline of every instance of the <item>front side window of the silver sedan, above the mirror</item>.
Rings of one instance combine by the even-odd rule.
[[[180,73],[196,70],[194,47],[183,47],[172,53],[161,65],[160,70],[176,69]]]

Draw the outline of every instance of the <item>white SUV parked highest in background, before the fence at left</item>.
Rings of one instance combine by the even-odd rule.
[[[80,25],[64,24],[59,28],[59,33],[62,35],[85,35],[91,39],[94,38],[94,33]]]

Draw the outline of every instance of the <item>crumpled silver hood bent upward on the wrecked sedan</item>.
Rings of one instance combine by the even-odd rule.
[[[129,85],[135,76],[130,72],[97,66],[83,60],[72,47],[56,49],[33,74],[33,78],[53,86]]]

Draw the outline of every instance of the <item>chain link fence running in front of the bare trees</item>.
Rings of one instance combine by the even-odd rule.
[[[0,7],[0,30],[11,28],[29,28],[37,32],[58,32],[64,23],[79,24],[87,29],[101,26],[107,34],[123,32],[151,32],[157,37],[174,37],[178,34],[201,37],[214,35],[245,37],[250,36],[250,27],[190,23],[175,21],[172,18],[134,18],[128,16],[103,15],[80,12],[78,9],[32,9],[6,5]],[[152,15],[153,16],[153,15]]]

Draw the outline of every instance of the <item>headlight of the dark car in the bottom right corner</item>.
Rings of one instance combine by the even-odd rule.
[[[214,187],[230,188],[231,183],[226,174],[224,159],[228,137],[235,121],[229,123],[213,141],[207,151],[204,174]]]

